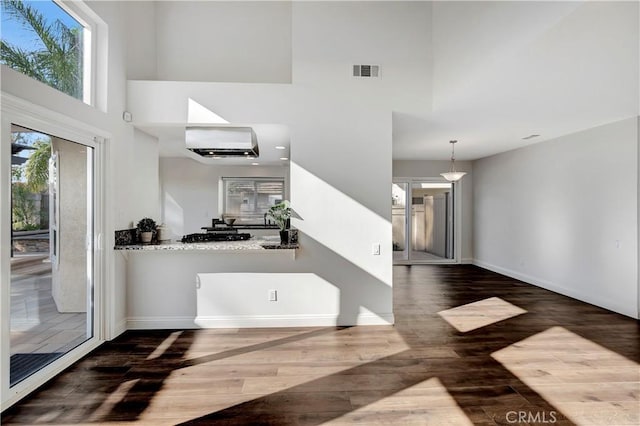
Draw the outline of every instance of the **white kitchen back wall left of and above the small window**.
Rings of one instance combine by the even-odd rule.
[[[220,217],[220,179],[243,176],[289,180],[287,167],[210,166],[189,158],[161,158],[162,222],[172,237],[202,232],[200,227],[211,226],[211,219]]]

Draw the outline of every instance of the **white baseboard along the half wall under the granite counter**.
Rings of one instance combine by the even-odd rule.
[[[345,323],[339,315],[233,315],[200,317],[131,317],[130,330],[191,328],[261,328],[261,327],[333,327],[349,325],[392,325],[393,313],[358,314],[355,324]],[[353,322],[353,321],[347,321]]]

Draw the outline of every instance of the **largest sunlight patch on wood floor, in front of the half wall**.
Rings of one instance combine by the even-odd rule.
[[[165,342],[168,339],[171,336]],[[190,346],[184,359],[191,364],[178,364],[163,378],[162,388],[153,394],[141,420],[171,418],[179,423],[281,393],[304,396],[314,392],[368,392],[378,388],[381,380],[393,388],[402,384],[400,374],[385,370],[377,381],[371,381],[366,369],[380,368],[376,365],[378,359],[409,349],[390,326],[211,329],[198,332]],[[380,349],[372,352],[367,347]],[[139,366],[140,374],[152,371],[156,361]],[[433,391],[420,389],[434,386],[431,382],[417,385],[413,392],[431,394]],[[436,408],[440,410],[439,407]],[[438,415],[444,416],[447,407]],[[173,417],[172,410],[179,415]]]

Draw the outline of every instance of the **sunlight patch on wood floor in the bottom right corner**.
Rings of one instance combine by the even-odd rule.
[[[638,364],[563,327],[491,356],[577,424],[640,424]]]

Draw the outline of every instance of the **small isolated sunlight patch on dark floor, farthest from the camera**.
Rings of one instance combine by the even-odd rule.
[[[445,321],[460,332],[476,330],[527,313],[499,297],[490,297],[466,305],[438,312]]]

